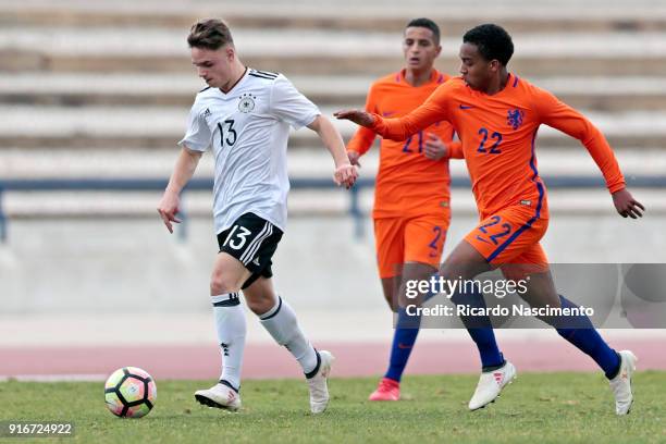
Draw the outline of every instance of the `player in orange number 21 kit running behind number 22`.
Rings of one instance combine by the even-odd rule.
[[[434,69],[441,50],[440,28],[433,21],[410,21],[403,36],[406,66],[372,84],[366,110],[400,116],[416,109],[449,78]],[[366,127],[356,132],[347,145],[353,164],[375,137]],[[370,400],[398,400],[400,395],[400,378],[419,330],[414,321],[403,321],[406,313],[398,295],[404,282],[428,279],[440,264],[451,220],[448,159],[462,157],[460,143],[452,138],[451,124],[435,122],[406,139],[381,141],[372,218],[384,298],[397,312],[397,323],[388,369]]]

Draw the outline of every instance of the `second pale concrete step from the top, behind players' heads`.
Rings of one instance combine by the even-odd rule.
[[[10,28],[0,34],[0,71],[192,72],[185,35],[139,28],[97,28],[94,34]],[[403,62],[395,33],[262,28],[240,29],[235,40],[247,64],[291,76],[381,75]],[[515,41],[510,67],[526,76],[666,75],[666,33],[517,34]],[[445,71],[457,70],[459,44],[458,37],[443,40],[440,66]]]

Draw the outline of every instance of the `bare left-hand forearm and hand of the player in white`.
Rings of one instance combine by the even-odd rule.
[[[172,222],[181,223],[181,219],[176,217],[181,207],[181,192],[194,175],[200,158],[201,151],[193,151],[183,147],[173,168],[173,173],[157,209],[169,233],[173,233]]]

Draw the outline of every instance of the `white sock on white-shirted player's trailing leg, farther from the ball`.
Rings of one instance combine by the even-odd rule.
[[[294,355],[306,375],[310,377],[308,373],[317,370],[317,351],[300,331],[296,313],[285,300],[278,296],[275,306],[261,314],[259,320],[275,342]]]

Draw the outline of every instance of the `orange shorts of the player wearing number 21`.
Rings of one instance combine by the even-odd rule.
[[[374,245],[380,278],[400,274],[405,262],[437,268],[449,222],[448,209],[440,214],[375,219]]]

